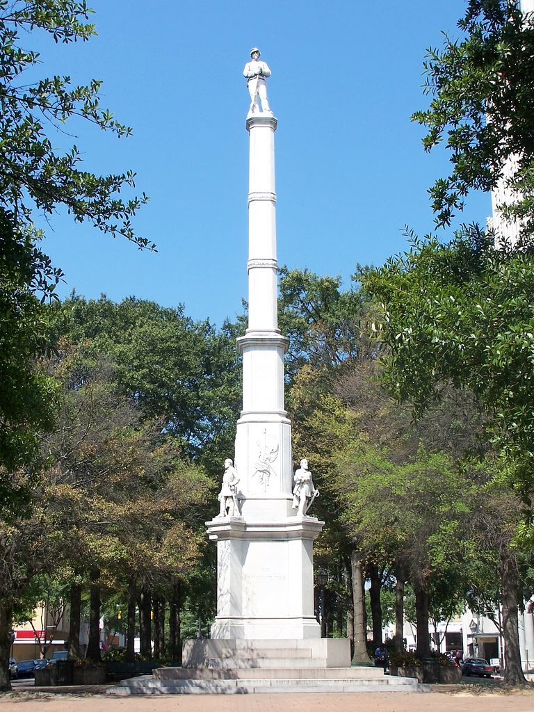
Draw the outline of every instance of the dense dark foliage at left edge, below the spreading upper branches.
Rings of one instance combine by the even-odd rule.
[[[20,507],[25,493],[11,472],[38,463],[37,429],[51,427],[55,384],[33,367],[46,347],[46,310],[34,290],[51,293],[58,273],[36,235],[0,208],[0,507]]]

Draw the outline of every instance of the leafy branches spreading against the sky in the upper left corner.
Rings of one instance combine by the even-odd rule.
[[[42,30],[56,43],[86,41],[95,35],[85,0],[0,0],[0,205],[14,220],[30,223],[33,209],[53,214],[66,206],[78,222],[89,221],[103,232],[122,235],[140,247],[153,247],[137,236],[131,218],[146,201],[122,198],[134,186],[135,174],[98,176],[81,167],[81,152],[73,145],[57,152],[51,141],[72,117],[81,117],[117,137],[131,129],[100,106],[102,83],[73,85],[68,76],[32,80],[39,54],[24,48],[31,33]],[[31,73],[30,82],[24,73]]]

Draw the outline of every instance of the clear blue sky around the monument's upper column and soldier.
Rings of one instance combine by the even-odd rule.
[[[38,40],[42,75],[102,79],[103,105],[131,125],[116,140],[75,125],[72,139],[95,172],[137,172],[150,196],[140,252],[89,226],[53,216],[45,251],[71,289],[90,298],[129,295],[184,303],[221,325],[246,298],[248,92],[251,46],[272,70],[278,117],[278,262],[340,274],[382,263],[433,227],[426,189],[446,170],[426,154],[409,115],[422,93],[427,47],[458,35],[464,0],[271,2],[90,0],[98,37],[55,46]],[[28,44],[33,46],[33,38]],[[70,139],[57,135],[57,145]],[[483,222],[487,195],[468,198],[464,221]],[[445,235],[444,235],[445,236]]]

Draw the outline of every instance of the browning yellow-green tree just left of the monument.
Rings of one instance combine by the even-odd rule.
[[[95,634],[88,656],[97,659],[100,604],[110,591],[142,586],[150,604],[148,592],[162,591],[197,562],[194,528],[212,483],[161,422],[143,419],[138,404],[117,396],[110,365],[63,343],[59,351],[52,367],[63,384],[61,418],[43,442],[49,509],[60,510],[63,560],[89,581]]]

